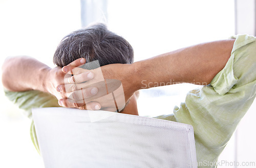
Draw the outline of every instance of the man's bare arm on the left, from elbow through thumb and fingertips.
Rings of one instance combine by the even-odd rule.
[[[80,58],[71,62],[69,66],[80,66],[84,63],[86,63],[86,60]],[[57,86],[64,83],[64,77],[69,77],[68,74],[62,72],[59,66],[50,68],[32,57],[16,56],[8,57],[5,60],[2,66],[2,73],[3,86],[9,90],[8,95],[14,95],[12,99],[15,99],[15,95],[18,95],[18,92],[28,90],[42,91],[41,93],[36,92],[40,96],[47,95],[43,92],[51,93],[58,100],[67,97],[65,92],[57,91]],[[90,90],[88,93],[90,93]],[[90,94],[88,95],[90,96]],[[69,107],[79,108],[80,105],[70,103]],[[87,103],[87,109],[94,109],[94,107],[95,103]]]

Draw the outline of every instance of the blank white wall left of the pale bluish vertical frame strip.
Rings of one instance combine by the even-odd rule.
[[[7,56],[29,55],[53,67],[57,44],[80,27],[79,0],[1,0],[0,65]],[[0,167],[44,167],[30,139],[31,122],[7,100],[1,82],[0,107]]]

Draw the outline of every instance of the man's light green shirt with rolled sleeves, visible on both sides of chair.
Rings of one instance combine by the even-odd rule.
[[[198,167],[215,167],[219,155],[236,130],[241,118],[255,98],[256,42],[253,36],[238,35],[231,57],[210,85],[187,93],[185,103],[174,113],[156,118],[192,125],[195,133]],[[28,111],[38,107],[59,107],[57,99],[36,90],[6,91],[7,97]],[[38,149],[36,134],[31,125],[31,138]],[[204,163],[208,162],[208,166]]]

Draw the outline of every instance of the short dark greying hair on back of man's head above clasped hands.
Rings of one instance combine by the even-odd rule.
[[[63,67],[78,58],[85,58],[87,62],[99,60],[100,66],[134,61],[129,42],[101,23],[64,37],[55,51],[53,62]]]

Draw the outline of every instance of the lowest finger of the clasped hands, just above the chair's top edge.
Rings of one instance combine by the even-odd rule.
[[[59,105],[68,108],[79,108],[81,110],[99,110],[101,106],[98,102],[89,102],[87,104],[72,103],[67,98],[60,99]]]

